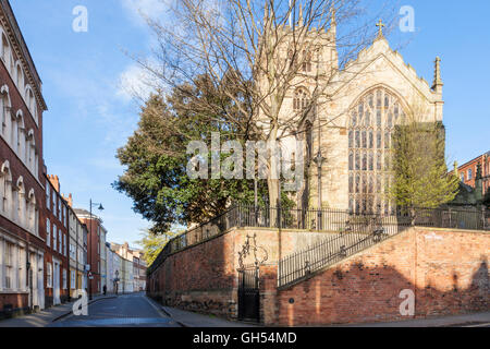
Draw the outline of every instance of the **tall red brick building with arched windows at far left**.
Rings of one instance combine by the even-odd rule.
[[[0,0],[0,317],[46,306],[41,91],[9,1]]]

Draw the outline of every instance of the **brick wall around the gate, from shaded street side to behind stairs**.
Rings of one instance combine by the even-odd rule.
[[[278,232],[271,229],[233,229],[167,258],[148,278],[148,293],[168,305],[236,317],[238,252],[242,251],[247,236],[254,234],[257,245],[267,251],[258,251],[259,260],[265,260],[264,267],[269,266],[267,273],[270,268],[277,269],[277,261],[295,251],[296,246],[326,236],[293,230]],[[253,255],[245,257],[243,263],[245,266],[254,265]],[[267,273],[261,272],[261,275],[269,279],[264,294],[274,293],[275,290],[270,288],[275,287],[277,280],[272,280]],[[270,296],[268,297],[270,299]],[[270,302],[275,302],[275,299]],[[268,311],[265,316],[271,317]]]

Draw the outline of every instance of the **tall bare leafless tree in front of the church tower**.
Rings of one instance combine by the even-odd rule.
[[[321,120],[340,71],[358,70],[353,61],[372,43],[372,19],[363,22],[359,0],[180,0],[168,22],[148,19],[158,47],[152,60],[137,61],[160,89],[188,86],[205,76],[216,98],[196,98],[193,112],[233,127],[243,140],[272,144],[297,137]],[[343,35],[338,35],[343,26]],[[363,62],[364,64],[365,62]],[[344,74],[344,76],[347,76]],[[226,83],[224,83],[226,82]],[[307,87],[307,93],[298,89]],[[199,86],[200,87],[200,86]],[[221,104],[220,100],[232,101]],[[291,104],[293,101],[293,105]],[[170,131],[169,131],[170,130]],[[172,132],[172,120],[168,131]],[[280,164],[267,155],[269,202],[275,204]],[[275,172],[277,173],[277,172]]]

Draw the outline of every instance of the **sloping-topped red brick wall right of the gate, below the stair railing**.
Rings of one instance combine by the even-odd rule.
[[[489,251],[488,232],[412,229],[278,292],[269,324],[406,320],[404,289],[415,293],[415,317],[489,310]]]

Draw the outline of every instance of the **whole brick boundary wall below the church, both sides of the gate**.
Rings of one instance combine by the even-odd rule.
[[[400,321],[490,310],[490,233],[428,228],[411,228],[285,290],[277,288],[278,260],[326,233],[235,228],[170,255],[149,275],[148,294],[169,306],[235,320],[238,252],[254,233],[267,251],[260,266],[265,325]],[[252,256],[244,260],[252,263]],[[414,316],[400,314],[405,289],[415,294]]]

